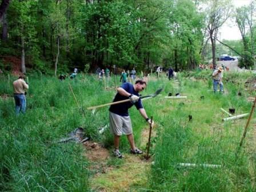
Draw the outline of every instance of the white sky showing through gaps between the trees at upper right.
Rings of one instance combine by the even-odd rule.
[[[233,5],[235,7],[241,7],[243,5],[249,5],[253,0],[233,0]],[[221,29],[219,30],[220,40],[238,40],[242,39],[240,31],[234,19],[228,19]]]

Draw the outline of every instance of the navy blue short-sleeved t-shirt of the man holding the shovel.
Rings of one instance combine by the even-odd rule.
[[[137,91],[135,91],[135,89],[134,89],[134,87],[131,83],[123,83],[121,88],[126,90],[128,93],[137,95],[139,97],[139,93]],[[122,100],[125,100],[125,99],[128,99],[128,97],[122,96],[119,93],[117,93],[115,95],[115,98],[114,98],[113,102],[122,101]],[[119,103],[117,105],[111,105],[109,107],[109,111],[114,113],[114,114],[120,115],[120,116],[129,116],[128,109],[130,109],[133,105],[135,105],[137,109],[142,109],[143,108],[141,99],[139,99],[139,101],[135,102],[134,104],[131,103],[130,101],[127,101],[125,103]]]

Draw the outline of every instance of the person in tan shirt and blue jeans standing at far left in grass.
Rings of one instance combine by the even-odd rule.
[[[25,91],[27,89],[29,89],[29,85],[25,82],[23,75],[19,76],[19,78],[13,82],[15,113],[17,115],[19,112],[25,113],[26,111]]]

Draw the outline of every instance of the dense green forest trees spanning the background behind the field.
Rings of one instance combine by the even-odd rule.
[[[242,40],[220,43],[219,28],[233,17]],[[239,55],[255,67],[255,2],[225,0],[2,0],[0,69],[14,60],[27,70],[60,74],[77,67],[175,71]]]

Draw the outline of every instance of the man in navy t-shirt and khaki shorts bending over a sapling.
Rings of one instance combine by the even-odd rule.
[[[147,117],[146,111],[142,106],[142,101],[139,98],[139,92],[143,91],[147,86],[147,83],[141,79],[135,82],[134,85],[131,83],[123,83],[121,87],[117,88],[117,94],[115,95],[114,101],[122,101],[127,98],[130,102],[119,103],[117,105],[111,105],[109,108],[109,122],[110,122],[110,133],[114,134],[114,155],[118,158],[122,158],[123,155],[119,151],[119,140],[122,134],[127,136],[130,143],[130,152],[132,154],[142,154],[143,152],[135,147],[133,129],[131,127],[131,119],[128,113],[128,109],[135,105],[146,121],[151,124],[151,119]],[[153,122],[152,122],[153,124]]]

